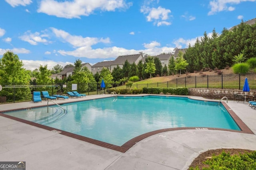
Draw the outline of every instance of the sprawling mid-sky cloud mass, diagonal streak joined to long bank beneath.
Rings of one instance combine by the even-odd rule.
[[[160,47],[160,43],[156,41],[152,41],[150,43],[144,43],[146,49],[134,50],[134,49],[125,49],[121,47],[105,47],[105,48],[98,48],[92,49],[92,45],[97,43],[110,43],[110,39],[106,38],[95,38],[95,37],[82,37],[77,35],[70,35],[70,33],[51,28],[53,33],[56,37],[62,39],[65,43],[70,43],[75,48],[73,51],[66,51],[66,50],[58,50],[57,53],[60,55],[70,55],[74,57],[86,57],[88,59],[108,59],[118,57],[119,55],[127,55],[127,54],[138,54],[140,51],[147,53],[149,55],[158,55],[160,53],[168,53],[173,51],[174,48],[171,47]],[[56,51],[54,50],[53,53],[57,55]]]

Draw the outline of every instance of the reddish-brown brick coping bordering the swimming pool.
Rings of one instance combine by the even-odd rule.
[[[124,95],[118,95],[118,96],[124,96]],[[171,96],[171,95],[145,95],[145,96]],[[113,96],[109,96],[109,97],[113,97]],[[189,97],[189,96],[174,96],[174,97],[184,97],[184,98],[189,98],[189,99],[193,99],[193,100],[201,100],[201,99],[194,99],[192,97]],[[108,96],[106,96],[106,98],[108,98]],[[90,99],[90,100],[94,100],[94,99]],[[88,100],[87,100],[88,101]],[[213,101],[213,100],[201,100],[201,101]],[[80,101],[77,101],[77,102],[80,102]],[[213,102],[216,102],[216,100],[214,100]],[[62,104],[66,104],[66,103],[73,103],[73,102],[63,102]],[[6,117],[6,118],[9,118],[9,119],[13,119],[13,120],[16,120],[16,121],[20,121],[22,123],[26,123],[26,124],[29,124],[29,125],[32,125],[32,126],[36,126],[36,127],[39,127],[39,128],[42,128],[42,129],[45,129],[45,130],[48,130],[48,131],[52,131],[54,133],[60,133],[61,135],[65,135],[65,136],[68,136],[68,137],[72,137],[74,139],[78,139],[78,140],[81,140],[81,141],[85,141],[85,142],[88,142],[88,143],[91,143],[91,144],[94,144],[94,145],[98,145],[100,147],[104,147],[104,148],[107,148],[107,149],[112,149],[112,150],[116,150],[118,152],[126,152],[127,150],[129,150],[132,146],[134,146],[136,143],[138,143],[139,141],[141,141],[142,139],[145,139],[147,137],[150,137],[152,135],[156,135],[158,133],[162,133],[162,132],[166,132],[166,131],[176,131],[176,130],[188,130],[188,129],[198,129],[198,130],[220,130],[220,131],[230,131],[230,132],[237,132],[237,133],[247,133],[247,134],[254,134],[250,128],[236,115],[236,113],[234,113],[234,111],[232,111],[232,109],[223,101],[221,101],[221,103],[223,104],[223,106],[226,108],[226,110],[228,111],[228,113],[231,115],[231,117],[234,119],[234,121],[236,122],[236,124],[240,127],[241,131],[238,131],[238,130],[230,130],[230,129],[221,129],[221,128],[210,128],[210,127],[175,127],[175,128],[166,128],[166,129],[158,129],[156,131],[151,131],[151,132],[148,132],[148,133],[144,133],[142,135],[139,135],[137,137],[134,137],[133,139],[130,139],[129,141],[127,141],[126,143],[124,143],[122,146],[117,146],[117,145],[113,145],[113,144],[110,144],[110,143],[106,143],[106,142],[102,142],[102,141],[98,141],[96,139],[91,139],[91,138],[88,138],[88,137],[84,137],[84,136],[81,136],[81,135],[76,135],[74,133],[70,133],[70,132],[67,132],[67,131],[63,131],[63,130],[60,130],[60,129],[56,129],[56,128],[53,128],[53,127],[48,127],[46,125],[41,125],[41,124],[38,124],[38,123],[34,123],[34,122],[31,122],[31,121],[27,121],[27,120],[24,120],[24,119],[20,119],[18,117],[13,117],[13,116],[10,116],[10,115],[6,115],[2,112],[7,112],[7,111],[15,111],[15,110],[20,110],[20,109],[28,109],[28,108],[36,108],[36,107],[45,107],[47,105],[43,105],[43,106],[35,106],[35,107],[27,107],[27,108],[19,108],[19,109],[10,109],[10,110],[4,110],[4,111],[0,111],[0,116],[2,117]],[[50,105],[49,105],[50,106]]]

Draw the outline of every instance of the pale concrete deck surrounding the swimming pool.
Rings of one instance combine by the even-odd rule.
[[[68,102],[108,96],[70,98]],[[0,111],[46,104],[45,101],[2,104]],[[256,134],[256,109],[242,102],[228,101],[227,105]],[[254,134],[207,129],[167,131],[147,137],[122,153],[0,116],[0,161],[26,161],[27,169],[37,170],[186,170],[206,150],[256,150]]]

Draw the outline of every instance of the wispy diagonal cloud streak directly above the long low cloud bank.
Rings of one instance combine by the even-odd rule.
[[[110,43],[110,39],[107,37],[104,38],[95,38],[95,37],[82,37],[77,35],[70,35],[66,31],[61,29],[51,28],[52,32],[56,35],[56,37],[63,39],[64,41],[70,43],[74,47],[84,47],[90,48],[92,45],[97,43]]]

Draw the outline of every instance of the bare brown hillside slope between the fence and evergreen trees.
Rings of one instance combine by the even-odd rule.
[[[234,74],[232,68],[229,69],[222,69],[222,74]],[[216,72],[214,72],[214,70],[212,71],[204,71],[202,72],[202,74],[205,75],[218,75]],[[190,76],[202,76],[202,74],[198,73],[188,73],[188,75]],[[162,77],[153,77],[153,78],[148,78],[146,80],[142,80],[139,82],[136,82],[134,84],[144,84],[144,83],[156,83],[156,82],[168,82],[170,80],[176,79],[176,78],[182,78],[182,77],[186,77],[188,76],[186,74],[175,74],[175,75],[171,75],[171,76],[162,76]]]

